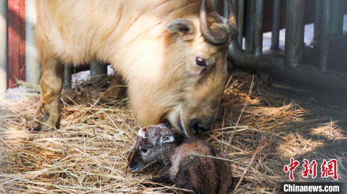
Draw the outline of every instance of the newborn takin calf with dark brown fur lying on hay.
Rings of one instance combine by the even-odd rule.
[[[151,162],[164,168],[155,182],[173,184],[196,194],[231,193],[230,161],[201,139],[186,137],[162,124],[151,125],[138,131],[133,152],[129,161],[132,172]]]

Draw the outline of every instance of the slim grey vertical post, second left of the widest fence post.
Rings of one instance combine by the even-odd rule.
[[[256,55],[263,52],[263,10],[264,0],[256,0],[254,3],[254,19],[253,19],[253,49]]]

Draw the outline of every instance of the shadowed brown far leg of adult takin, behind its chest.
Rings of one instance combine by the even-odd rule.
[[[115,75],[111,78],[111,83],[106,92],[102,96],[103,102],[111,102],[115,99],[122,99],[126,96],[126,86],[123,78],[115,72]]]

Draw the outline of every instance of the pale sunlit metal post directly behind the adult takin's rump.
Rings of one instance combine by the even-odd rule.
[[[39,84],[41,71],[35,41],[36,17],[36,0],[25,0],[25,77],[32,84]]]

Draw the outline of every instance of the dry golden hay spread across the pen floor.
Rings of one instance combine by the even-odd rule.
[[[234,193],[276,193],[279,182],[288,180],[283,167],[290,157],[314,158],[319,165],[323,158],[337,158],[340,180],[345,180],[347,111],[266,83],[259,75],[232,73],[216,124],[200,135],[230,157]],[[141,126],[126,99],[100,103],[103,91],[93,81],[64,91],[60,129],[38,133],[27,130],[38,95],[1,101],[0,193],[179,192],[165,185],[148,187],[150,173],[124,174]],[[295,180],[309,181],[300,178],[300,171]]]

